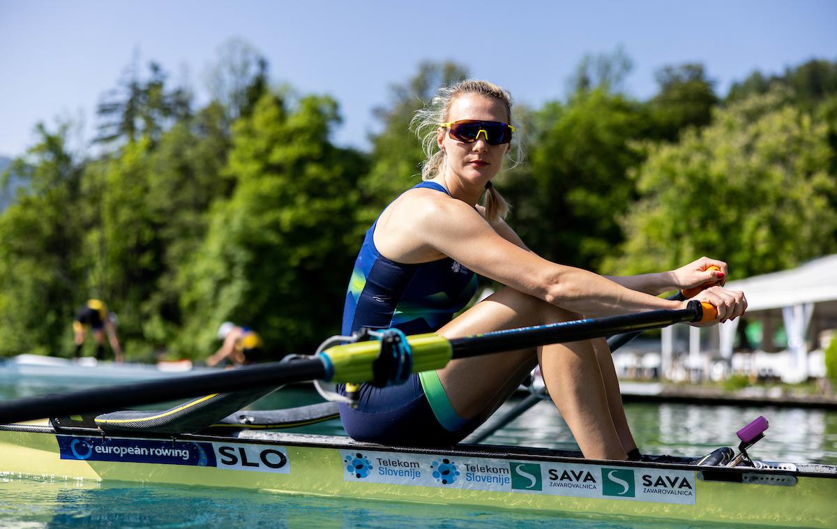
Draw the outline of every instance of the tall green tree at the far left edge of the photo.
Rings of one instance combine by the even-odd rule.
[[[11,166],[25,185],[0,216],[0,355],[59,354],[72,345],[83,163],[65,146],[68,128],[39,124],[39,142]]]

